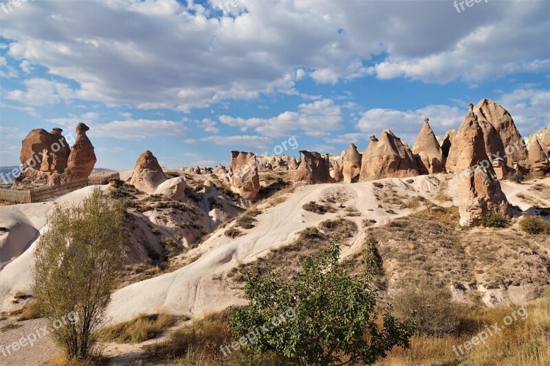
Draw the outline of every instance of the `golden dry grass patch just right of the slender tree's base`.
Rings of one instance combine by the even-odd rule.
[[[99,336],[100,340],[105,342],[142,343],[157,338],[174,324],[175,319],[170,314],[143,314],[131,321],[104,328]]]

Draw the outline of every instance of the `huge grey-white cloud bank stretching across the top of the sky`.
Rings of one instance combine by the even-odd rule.
[[[139,108],[190,111],[261,93],[300,95],[296,81],[307,76],[325,84],[368,73],[472,83],[549,69],[547,1],[492,1],[467,14],[447,1],[240,1],[224,15],[212,9],[217,0],[30,5],[0,12],[0,36],[23,72],[40,65],[74,80],[80,99]],[[8,95],[25,104],[75,97],[68,84],[43,84],[44,94],[54,91],[50,99],[36,86]]]

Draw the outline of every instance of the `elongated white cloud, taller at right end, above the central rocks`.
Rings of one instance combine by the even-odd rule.
[[[330,99],[300,104],[298,112],[286,111],[267,119],[221,115],[219,120],[228,126],[238,127],[243,132],[253,129],[270,137],[288,136],[295,130],[303,130],[309,136],[319,136],[325,135],[326,131],[343,128],[340,106]]]

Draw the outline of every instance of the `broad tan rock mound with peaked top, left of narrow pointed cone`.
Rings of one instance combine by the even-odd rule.
[[[360,182],[417,175],[415,155],[391,130],[383,130],[380,140],[371,136],[371,144],[363,152]]]

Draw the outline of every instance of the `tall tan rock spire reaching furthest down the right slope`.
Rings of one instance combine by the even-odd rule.
[[[487,152],[483,128],[470,104],[458,133],[456,144],[459,157],[456,176],[459,190],[461,225],[472,227],[481,224],[485,214],[500,214],[511,217],[511,207],[500,188]]]

